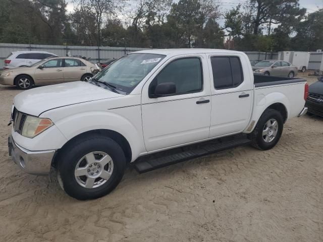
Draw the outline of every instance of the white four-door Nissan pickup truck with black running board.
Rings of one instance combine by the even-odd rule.
[[[144,172],[237,145],[271,149],[306,112],[307,93],[304,79],[253,76],[238,51],[138,51],[89,82],[18,94],[9,154],[28,173],[57,169],[67,194],[95,199],[131,162]]]

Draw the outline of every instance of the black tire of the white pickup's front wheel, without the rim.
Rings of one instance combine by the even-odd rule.
[[[113,171],[109,179],[96,188],[79,184],[74,172],[79,161],[91,152],[104,152],[112,158]],[[88,169],[88,168],[86,168]],[[58,180],[62,189],[78,200],[97,199],[112,192],[120,183],[126,169],[126,157],[120,145],[103,136],[89,136],[68,145],[59,155]],[[89,171],[89,170],[87,170]],[[86,178],[87,180],[87,178]]]

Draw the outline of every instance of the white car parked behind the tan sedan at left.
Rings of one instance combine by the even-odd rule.
[[[11,52],[5,59],[4,69],[29,67],[42,59],[58,55],[46,51],[16,51]]]

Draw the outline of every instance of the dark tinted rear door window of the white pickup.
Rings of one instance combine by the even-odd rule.
[[[243,82],[243,73],[239,57],[211,57],[211,66],[214,88],[234,88]]]

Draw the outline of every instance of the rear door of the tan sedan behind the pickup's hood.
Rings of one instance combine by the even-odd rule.
[[[86,65],[79,59],[64,59],[64,82],[80,81],[86,73]]]

